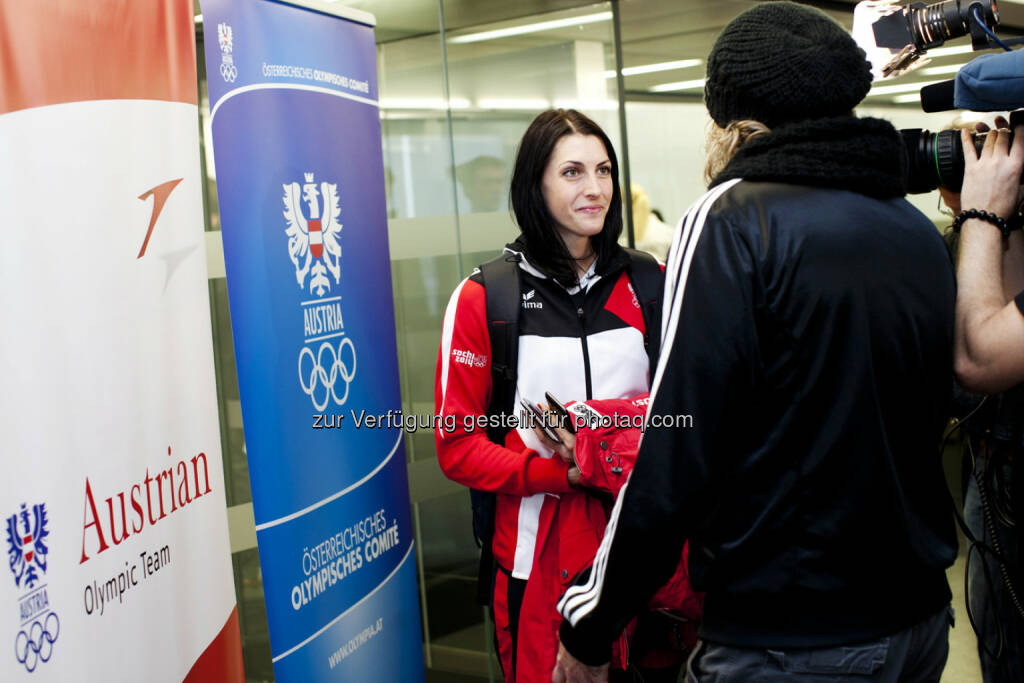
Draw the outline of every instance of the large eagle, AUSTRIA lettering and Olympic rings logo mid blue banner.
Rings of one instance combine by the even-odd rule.
[[[332,401],[343,405],[355,378],[355,346],[345,335],[341,296],[329,296],[341,284],[341,207],[338,185],[305,173],[302,186],[285,188],[288,256],[295,280],[310,297],[300,303],[304,344],[299,351],[299,386],[313,408]]]

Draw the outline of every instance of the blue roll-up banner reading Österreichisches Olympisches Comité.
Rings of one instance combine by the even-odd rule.
[[[274,674],[422,681],[373,17],[202,9]]]

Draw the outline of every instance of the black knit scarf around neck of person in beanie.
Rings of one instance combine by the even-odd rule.
[[[903,197],[906,155],[888,121],[813,119],[750,140],[711,186],[733,178],[835,187],[877,199]]]

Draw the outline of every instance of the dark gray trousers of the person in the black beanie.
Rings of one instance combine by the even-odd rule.
[[[952,608],[867,643],[811,649],[748,649],[700,641],[687,683],[938,683],[949,653]]]

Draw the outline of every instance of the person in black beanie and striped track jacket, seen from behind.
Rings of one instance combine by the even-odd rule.
[[[718,38],[710,190],[669,254],[636,468],[559,601],[556,683],[604,679],[687,539],[688,681],[939,681],[953,270],[904,199],[898,132],[853,116],[870,81],[806,6],[758,3]]]

